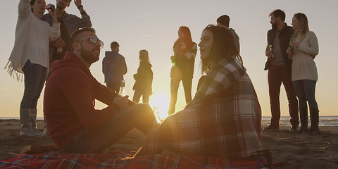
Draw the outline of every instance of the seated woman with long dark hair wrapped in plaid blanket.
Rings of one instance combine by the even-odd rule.
[[[199,47],[207,75],[196,96],[149,135],[137,156],[170,150],[242,158],[261,150],[261,106],[231,32],[208,25]]]

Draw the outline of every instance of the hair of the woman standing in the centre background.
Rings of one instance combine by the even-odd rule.
[[[181,26],[178,30],[181,30],[183,32],[184,38],[183,39],[177,39],[175,44],[174,44],[173,49],[174,49],[175,53],[177,51],[181,51],[182,49],[181,49],[181,43],[180,42],[183,41],[186,48],[181,51],[181,54],[184,54],[192,48],[192,44],[193,44],[192,33],[190,32],[189,27],[186,27],[186,26]]]

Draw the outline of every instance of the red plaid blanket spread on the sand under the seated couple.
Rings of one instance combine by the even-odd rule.
[[[123,154],[23,154],[0,161],[0,168],[261,168],[267,158],[242,158],[228,160],[218,157],[151,155],[125,158]]]

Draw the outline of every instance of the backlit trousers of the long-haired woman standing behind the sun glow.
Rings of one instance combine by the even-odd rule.
[[[170,105],[169,114],[175,113],[175,106],[177,101],[178,87],[180,86],[180,79],[171,78],[170,82]],[[185,102],[189,104],[192,101],[192,78],[183,78],[182,84],[184,88]]]

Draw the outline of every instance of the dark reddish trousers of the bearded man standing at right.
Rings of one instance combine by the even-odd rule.
[[[270,65],[268,71],[271,125],[279,125],[280,121],[280,86],[283,83],[287,100],[289,101],[289,114],[291,125],[299,125],[298,101],[292,85],[291,73],[284,65]]]

